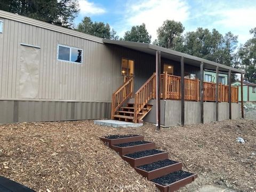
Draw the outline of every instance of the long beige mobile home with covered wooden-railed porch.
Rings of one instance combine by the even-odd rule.
[[[242,70],[4,11],[0,23],[0,123],[113,118],[168,127],[241,116],[237,87],[203,82],[203,70]]]

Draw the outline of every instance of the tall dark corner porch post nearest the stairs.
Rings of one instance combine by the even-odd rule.
[[[161,65],[161,52],[160,51],[156,51],[156,126],[157,126],[157,130],[160,130],[161,128],[161,114],[160,114],[160,97],[161,97],[161,93],[159,90],[160,87],[160,65]]]

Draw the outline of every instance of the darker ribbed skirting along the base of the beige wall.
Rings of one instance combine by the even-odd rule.
[[[110,118],[110,102],[0,101],[0,124]]]

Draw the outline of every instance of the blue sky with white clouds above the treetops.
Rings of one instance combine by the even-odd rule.
[[[217,29],[225,35],[231,31],[238,42],[251,38],[249,31],[256,27],[256,0],[78,0],[80,12],[77,25],[84,17],[109,23],[123,37],[132,26],[145,23],[151,42],[156,30],[167,19],[180,21],[187,31],[198,27]]]

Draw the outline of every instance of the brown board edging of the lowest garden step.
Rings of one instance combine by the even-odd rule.
[[[159,185],[158,183],[155,183],[155,182],[153,182],[153,183],[162,192],[173,192],[173,191],[178,190],[179,188],[186,186],[189,183],[193,182],[196,178],[197,178],[197,174],[193,174],[187,178],[173,182],[170,185],[166,185],[166,186]]]

